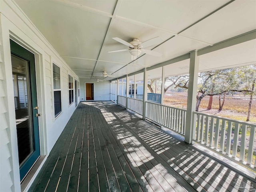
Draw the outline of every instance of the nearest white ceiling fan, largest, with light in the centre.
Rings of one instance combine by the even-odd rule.
[[[128,42],[126,42],[126,41],[124,41],[124,40],[122,40],[118,37],[114,37],[112,39],[128,46],[129,48],[128,49],[108,51],[108,53],[129,51],[130,54],[132,55],[132,60],[136,59],[141,53],[149,54],[149,55],[156,56],[156,57],[162,56],[161,53],[158,53],[158,52],[155,52],[155,51],[152,51],[152,50],[144,49],[144,48],[152,46],[154,44],[159,44],[159,43],[163,42],[161,37],[155,37],[155,38],[147,40],[143,43],[140,42],[139,39],[133,39],[132,42],[130,42],[130,43],[128,43]]]

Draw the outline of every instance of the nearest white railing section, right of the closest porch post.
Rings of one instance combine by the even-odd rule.
[[[250,168],[256,167],[253,163],[256,125],[194,112],[194,128],[194,141]]]

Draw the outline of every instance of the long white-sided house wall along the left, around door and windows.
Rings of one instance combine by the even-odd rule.
[[[13,1],[0,0],[0,191],[19,192],[10,38],[35,54],[41,155],[48,155],[75,110],[68,103],[68,74],[79,81],[44,36]],[[62,113],[54,117],[52,62],[61,68]],[[80,83],[83,84],[83,83]],[[30,183],[32,183],[31,180]]]

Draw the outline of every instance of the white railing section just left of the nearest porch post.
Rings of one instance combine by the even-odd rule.
[[[146,102],[146,118],[185,135],[186,110]]]

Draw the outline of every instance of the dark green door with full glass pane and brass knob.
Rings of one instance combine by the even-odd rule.
[[[35,55],[10,40],[20,180],[40,156]]]

